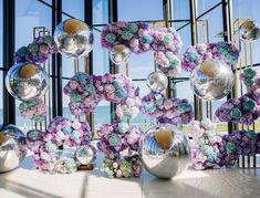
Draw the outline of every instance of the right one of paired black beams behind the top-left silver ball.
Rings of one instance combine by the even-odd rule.
[[[62,22],[62,0],[56,0],[56,24]],[[56,54],[56,114],[58,116],[63,115],[62,105],[62,56],[60,53]]]

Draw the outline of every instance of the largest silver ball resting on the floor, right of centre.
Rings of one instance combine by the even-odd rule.
[[[190,147],[187,137],[176,126],[152,126],[141,139],[141,159],[148,173],[169,179],[189,164]]]

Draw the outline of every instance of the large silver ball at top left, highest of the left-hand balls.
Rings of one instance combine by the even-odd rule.
[[[92,29],[83,21],[67,19],[55,28],[54,41],[60,53],[80,59],[92,51],[94,35]]]

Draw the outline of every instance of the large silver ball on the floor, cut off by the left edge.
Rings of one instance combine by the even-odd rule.
[[[25,135],[14,125],[0,126],[0,173],[17,168],[25,156]]]

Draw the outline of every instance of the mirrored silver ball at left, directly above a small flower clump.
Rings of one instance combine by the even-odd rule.
[[[42,97],[49,87],[49,75],[39,65],[19,63],[6,76],[8,92],[18,100],[30,101]]]

